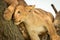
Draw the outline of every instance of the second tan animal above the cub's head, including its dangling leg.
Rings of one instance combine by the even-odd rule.
[[[15,7],[19,4],[19,5],[23,5],[26,6],[27,4],[25,3],[24,0],[4,0],[6,3],[9,4],[8,8],[4,11],[4,19],[5,20],[11,20],[12,15],[14,13]]]

